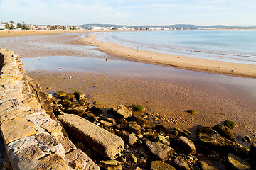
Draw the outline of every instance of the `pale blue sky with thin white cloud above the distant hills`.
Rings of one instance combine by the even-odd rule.
[[[256,0],[0,0],[0,22],[256,26]]]

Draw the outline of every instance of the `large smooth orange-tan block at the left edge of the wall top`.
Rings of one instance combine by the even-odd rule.
[[[36,134],[35,126],[26,118],[16,118],[1,124],[1,131],[6,144],[22,137]]]

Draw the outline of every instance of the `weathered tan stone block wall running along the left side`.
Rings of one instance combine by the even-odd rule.
[[[0,48],[0,128],[12,169],[100,169],[65,135],[46,94]]]

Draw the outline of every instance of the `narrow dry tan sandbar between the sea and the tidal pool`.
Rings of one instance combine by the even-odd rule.
[[[123,45],[117,45],[110,42],[102,42],[96,40],[97,37],[97,35],[90,35],[86,38],[80,38],[77,42],[99,47],[100,51],[107,52],[110,55],[127,57],[141,62],[161,64],[168,67],[176,67],[179,69],[188,69],[199,72],[256,78],[255,65],[198,59],[181,55],[169,55],[151,52],[148,50],[137,50],[132,47],[125,47]]]

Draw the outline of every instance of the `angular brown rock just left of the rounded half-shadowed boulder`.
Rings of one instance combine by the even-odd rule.
[[[162,144],[161,142],[151,142],[147,140],[146,146],[149,147],[149,150],[152,154],[154,154],[156,157],[163,161],[169,159],[169,157],[174,154],[174,149]]]

